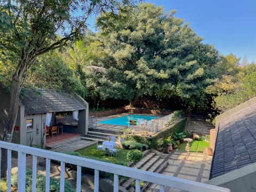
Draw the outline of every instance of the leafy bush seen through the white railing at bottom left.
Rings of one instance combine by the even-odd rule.
[[[12,175],[12,184],[18,186],[18,172]],[[26,171],[26,192],[32,191],[32,170]],[[37,173],[36,191],[45,191],[45,176]],[[60,191],[60,180],[50,177],[50,191]],[[65,180],[65,191],[75,192],[76,190],[71,187],[71,183]]]

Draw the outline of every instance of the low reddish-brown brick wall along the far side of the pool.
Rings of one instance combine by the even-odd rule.
[[[152,114],[152,115],[169,115],[171,111],[159,110],[159,109],[145,109],[145,108],[134,108],[134,107],[126,107],[105,111],[93,111],[89,112],[89,116],[109,116],[116,115],[121,113],[131,113],[131,114]]]

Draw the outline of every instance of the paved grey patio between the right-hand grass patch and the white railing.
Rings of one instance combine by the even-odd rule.
[[[209,178],[211,168],[211,156],[202,153],[181,153],[175,151],[169,158],[169,165],[162,174],[173,177],[189,179],[198,182],[205,182]],[[153,184],[149,191],[159,191],[159,185]],[[180,191],[178,189],[166,187],[165,191]]]

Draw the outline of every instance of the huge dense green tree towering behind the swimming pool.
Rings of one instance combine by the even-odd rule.
[[[214,47],[203,44],[174,11],[164,14],[162,7],[140,4],[130,12],[119,12],[126,22],[108,20],[108,13],[97,20],[99,41],[111,58],[105,92],[131,105],[143,95],[175,97],[190,109],[203,103],[209,69],[218,58]]]

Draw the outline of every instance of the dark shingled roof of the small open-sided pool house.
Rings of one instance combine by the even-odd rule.
[[[21,99],[25,114],[42,114],[86,109],[84,103],[76,99],[75,94],[53,90],[25,90]]]

